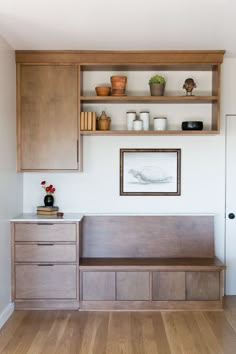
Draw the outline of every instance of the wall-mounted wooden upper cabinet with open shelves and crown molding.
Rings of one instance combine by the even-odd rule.
[[[18,170],[80,168],[81,135],[218,134],[223,55],[223,50],[16,51]],[[165,96],[150,96],[148,79],[160,72],[169,78]],[[126,96],[95,95],[96,86],[109,85],[110,76],[120,73],[128,77]],[[182,85],[189,76],[199,84],[195,95],[186,97]],[[125,112],[133,105],[153,114],[176,107],[178,118],[170,115],[165,131],[128,131]],[[104,109],[112,112],[111,130],[79,130],[81,111],[99,115]],[[204,130],[183,131],[183,120],[202,120]]]

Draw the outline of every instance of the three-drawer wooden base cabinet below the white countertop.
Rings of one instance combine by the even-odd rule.
[[[16,308],[78,308],[78,225],[12,224],[12,297]]]

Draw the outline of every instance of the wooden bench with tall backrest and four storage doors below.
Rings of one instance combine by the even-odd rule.
[[[222,309],[213,216],[85,216],[81,309]]]

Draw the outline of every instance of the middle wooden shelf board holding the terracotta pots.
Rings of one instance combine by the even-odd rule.
[[[212,103],[217,96],[80,96],[82,102],[96,103]]]

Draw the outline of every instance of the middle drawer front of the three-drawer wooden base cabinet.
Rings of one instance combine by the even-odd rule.
[[[15,244],[15,262],[76,262],[76,245]]]

